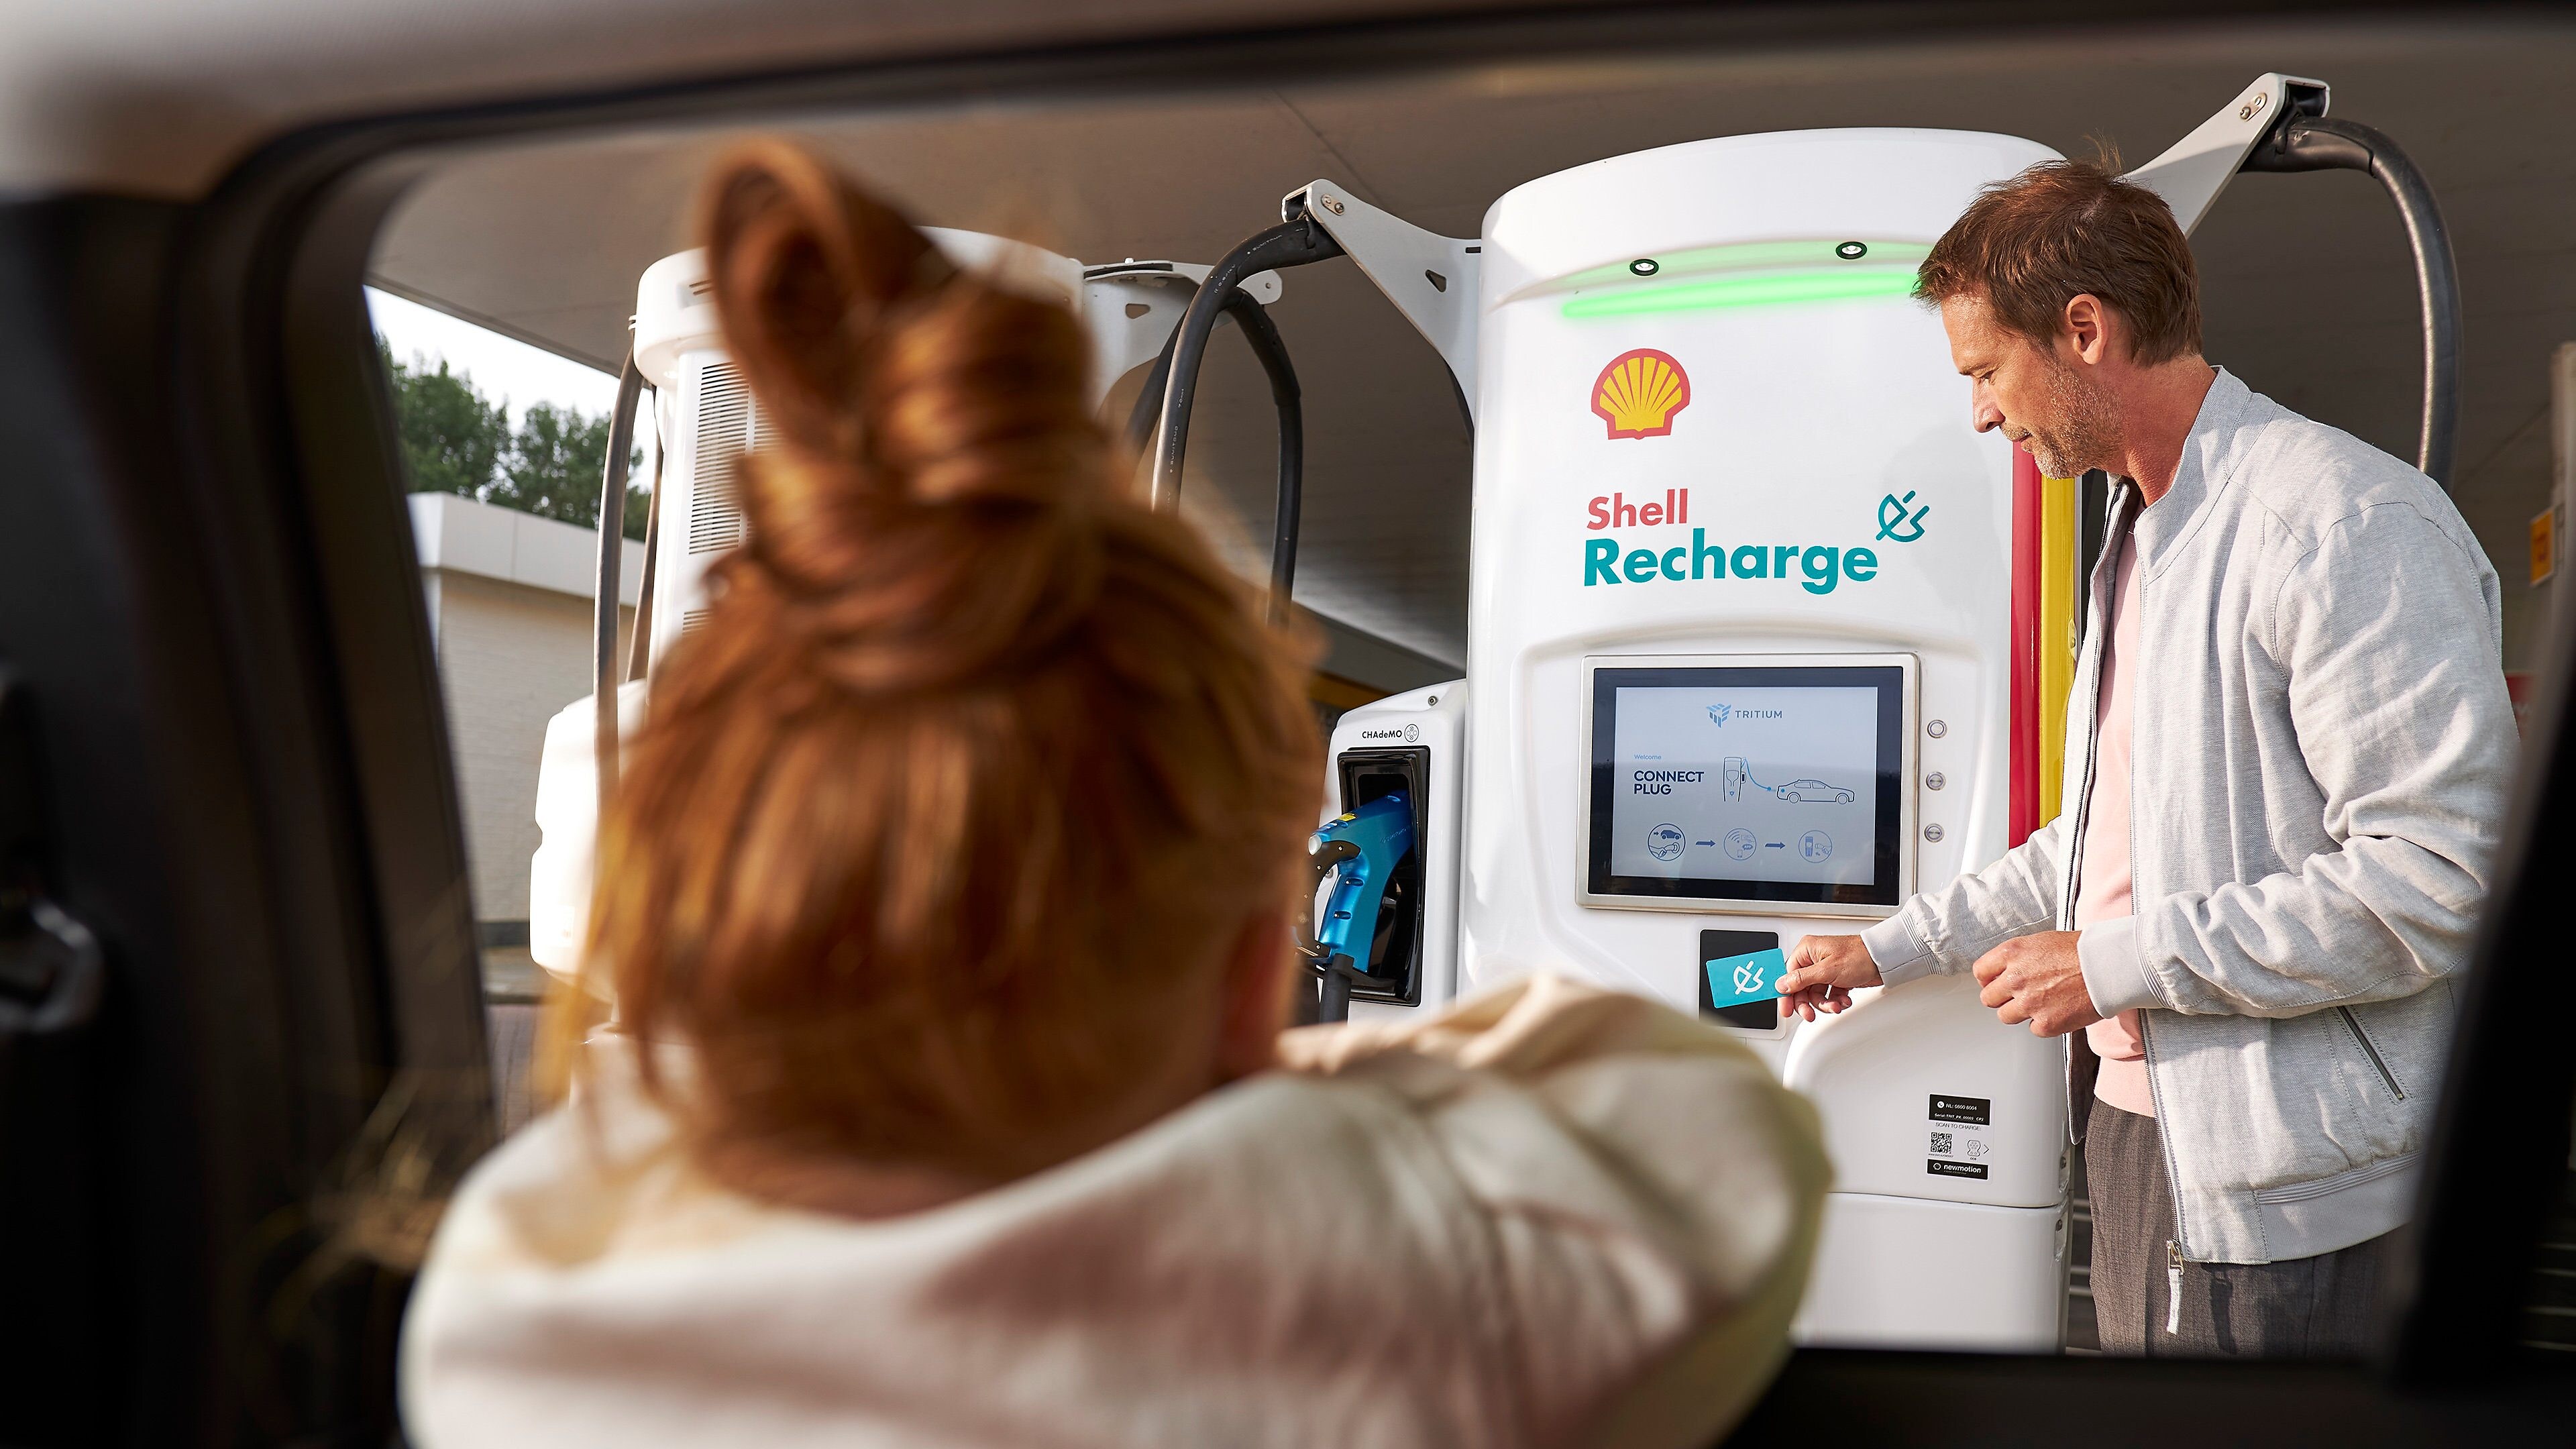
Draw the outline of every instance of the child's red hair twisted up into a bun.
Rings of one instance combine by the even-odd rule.
[[[781,142],[703,235],[781,446],[654,673],[587,969],[693,1047],[685,1093],[644,1067],[701,1152],[1007,1178],[1162,1073],[1175,993],[1288,900],[1314,645],[1128,495],[1069,309]]]

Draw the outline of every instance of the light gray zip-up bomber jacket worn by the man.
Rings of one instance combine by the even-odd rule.
[[[2130,529],[2136,908],[2084,931],[2084,985],[2105,1016],[2141,1008],[2182,1256],[2331,1253],[2411,1212],[2514,766],[2496,570],[2432,480],[2221,371],[2172,492],[2112,495],[2066,810],[1862,938],[1901,985],[2074,928]]]

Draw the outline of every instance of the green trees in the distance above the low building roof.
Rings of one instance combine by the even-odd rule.
[[[487,400],[471,374],[448,371],[446,358],[435,371],[417,356],[404,366],[384,338],[376,338],[376,353],[394,387],[394,433],[412,492],[459,492],[577,529],[598,526],[605,413],[592,418],[580,407],[533,402],[513,428],[507,407]],[[629,456],[629,467],[636,464],[641,451]],[[626,485],[629,539],[644,536],[652,505],[644,482]]]

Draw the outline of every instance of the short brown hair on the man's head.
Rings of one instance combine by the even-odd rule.
[[[2117,165],[2117,162],[2112,162]],[[2066,304],[2094,294],[2128,317],[2141,364],[2200,351],[2200,271],[2161,196],[2112,165],[2043,160],[1986,186],[1932,242],[1914,297],[1981,297],[1996,322],[2048,343]]]

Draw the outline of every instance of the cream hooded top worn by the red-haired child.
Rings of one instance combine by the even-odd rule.
[[[1533,977],[930,1212],[698,1176],[605,1070],[412,1294],[422,1449],[1705,1444],[1788,1354],[1826,1163],[1718,1031]]]

